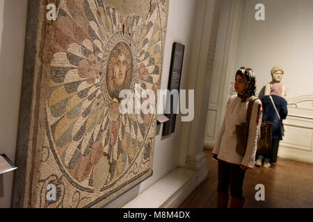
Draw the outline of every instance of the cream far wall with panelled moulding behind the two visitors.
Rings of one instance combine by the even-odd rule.
[[[265,20],[255,19],[263,3]],[[225,105],[234,92],[234,71],[251,67],[257,76],[257,94],[271,81],[271,69],[284,69],[289,116],[284,121],[280,157],[313,162],[313,1],[224,1],[224,23],[219,30],[218,58],[209,99],[205,144],[214,146]],[[216,85],[216,86],[215,86]]]

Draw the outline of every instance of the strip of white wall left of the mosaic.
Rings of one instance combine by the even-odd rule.
[[[0,1],[0,153],[15,161],[19,97],[22,84],[26,0]],[[13,172],[3,176],[0,207],[10,207]]]

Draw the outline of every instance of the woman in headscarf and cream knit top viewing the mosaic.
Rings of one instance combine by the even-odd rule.
[[[262,124],[262,103],[256,100],[252,105],[246,155],[236,153],[236,124],[246,122],[248,104],[257,90],[252,69],[241,67],[236,71],[234,89],[237,95],[232,96],[227,103],[225,118],[212,151],[214,159],[218,160],[218,208],[227,208],[229,187],[232,196],[230,207],[243,207],[243,179],[246,170],[253,169],[255,165],[257,141]]]

